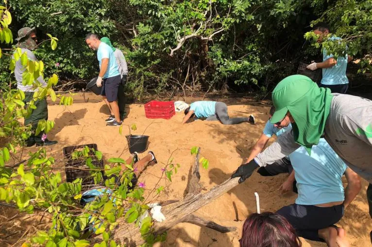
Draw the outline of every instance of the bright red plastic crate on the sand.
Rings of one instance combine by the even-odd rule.
[[[145,114],[147,118],[170,119],[176,114],[173,101],[152,100],[145,104]]]

